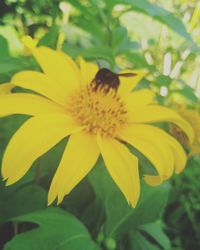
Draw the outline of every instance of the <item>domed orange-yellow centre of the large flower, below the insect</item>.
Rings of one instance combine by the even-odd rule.
[[[71,95],[68,111],[85,132],[104,137],[116,137],[127,121],[127,111],[117,91],[106,86],[81,87]]]

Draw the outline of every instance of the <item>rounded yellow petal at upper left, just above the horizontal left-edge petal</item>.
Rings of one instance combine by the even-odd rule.
[[[36,71],[22,71],[15,74],[11,80],[16,86],[35,91],[49,99],[61,104],[66,104],[67,91],[64,92],[60,85],[43,73]]]

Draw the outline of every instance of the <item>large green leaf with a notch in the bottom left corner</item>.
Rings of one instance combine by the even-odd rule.
[[[48,208],[15,218],[39,227],[16,235],[4,250],[99,250],[85,226],[73,215],[59,208]]]

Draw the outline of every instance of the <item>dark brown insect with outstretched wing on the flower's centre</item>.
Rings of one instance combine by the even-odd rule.
[[[100,69],[92,83],[95,84],[94,90],[97,90],[99,87],[107,86],[108,90],[110,88],[117,90],[120,84],[119,76],[124,77],[133,77],[136,76],[135,73],[122,73],[122,74],[116,74],[109,69],[102,68]]]

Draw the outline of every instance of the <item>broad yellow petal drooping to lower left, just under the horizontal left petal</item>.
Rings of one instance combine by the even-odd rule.
[[[81,128],[62,114],[30,118],[11,138],[2,162],[2,176],[7,185],[22,178],[33,162],[55,144]]]

